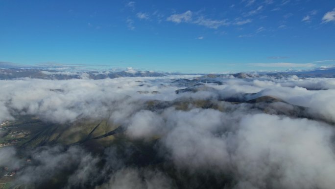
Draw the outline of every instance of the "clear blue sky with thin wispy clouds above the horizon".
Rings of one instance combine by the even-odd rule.
[[[0,0],[0,62],[184,73],[335,65],[335,0]]]

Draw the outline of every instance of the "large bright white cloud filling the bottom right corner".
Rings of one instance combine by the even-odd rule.
[[[240,127],[234,158],[243,175],[241,188],[331,189],[334,185],[330,178],[335,160],[330,146],[333,128],[266,114],[246,116]]]

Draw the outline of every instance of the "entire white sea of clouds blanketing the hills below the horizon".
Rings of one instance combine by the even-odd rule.
[[[222,84],[204,83],[202,90],[177,94],[186,87],[172,81],[181,77],[194,76],[0,81],[0,122],[20,115],[67,125],[108,119],[122,125],[130,140],[158,136],[155,148],[177,172],[222,180],[221,188],[334,189],[335,79],[220,78]],[[260,106],[224,101],[264,96],[278,101]],[[220,108],[145,108],[148,101],[197,100]],[[0,166],[23,166],[18,151],[0,148]],[[112,147],[101,156],[80,145],[43,146],[26,153],[38,163],[20,170],[15,182],[32,186],[43,185],[69,167],[74,169],[62,186],[67,189],[203,186],[203,181],[181,184],[178,175],[176,179],[162,170],[129,166]],[[226,177],[232,180],[229,186],[223,185]]]

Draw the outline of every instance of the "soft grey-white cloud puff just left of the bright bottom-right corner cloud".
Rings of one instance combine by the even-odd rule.
[[[178,166],[211,169],[213,165],[224,165],[228,159],[226,144],[214,134],[223,121],[221,112],[212,109],[186,112],[168,109],[164,114],[167,126],[171,128],[164,143]]]

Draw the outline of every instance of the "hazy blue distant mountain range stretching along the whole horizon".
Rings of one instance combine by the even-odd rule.
[[[120,78],[120,77],[163,77],[167,75],[182,75],[180,73],[157,73],[149,71],[85,71],[85,72],[69,72],[58,70],[44,70],[34,68],[0,68],[0,80],[12,80],[17,78],[34,78],[46,80],[69,80],[69,79],[93,79],[101,80],[106,78]],[[200,74],[201,75],[201,74]],[[201,82],[218,82],[216,78],[262,78],[274,77],[285,78],[290,76],[297,76],[299,78],[335,78],[335,67],[332,68],[317,68],[307,71],[285,71],[285,72],[241,72],[236,74],[208,74],[198,77],[195,80],[180,79],[175,81],[180,86],[190,86]],[[190,83],[191,82],[191,83]],[[218,83],[220,84],[220,83]]]

